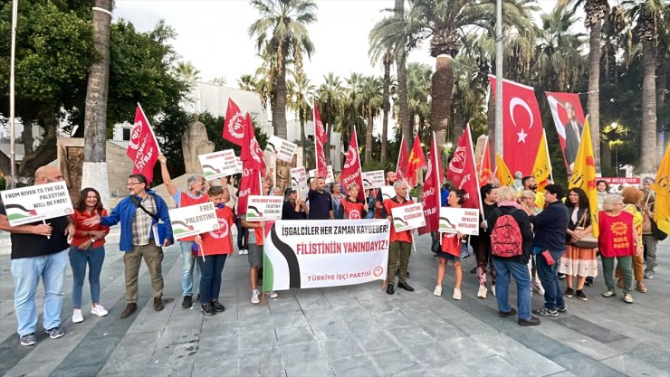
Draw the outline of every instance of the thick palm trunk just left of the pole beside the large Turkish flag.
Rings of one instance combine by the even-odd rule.
[[[430,125],[436,132],[437,146],[444,146],[452,90],[454,90],[453,59],[450,55],[440,54],[436,58],[436,71],[431,84]],[[441,156],[444,158],[444,156]],[[443,165],[445,161],[442,162]]]

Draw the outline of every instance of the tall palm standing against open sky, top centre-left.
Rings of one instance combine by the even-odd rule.
[[[307,33],[316,22],[317,5],[311,0],[251,0],[260,18],[249,26],[256,49],[265,60],[273,61],[273,128],[277,137],[286,138],[286,65],[295,50],[310,57],[314,45]]]

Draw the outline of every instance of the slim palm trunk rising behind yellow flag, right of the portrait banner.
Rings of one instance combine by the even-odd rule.
[[[600,37],[602,21],[591,24],[589,33],[589,125],[596,157],[596,172],[600,172]]]

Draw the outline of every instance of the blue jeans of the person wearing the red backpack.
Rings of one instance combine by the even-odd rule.
[[[512,310],[509,303],[509,287],[511,277],[516,281],[516,306],[520,319],[531,319],[531,275],[523,263],[493,258],[495,266],[495,298],[498,310],[508,313]]]

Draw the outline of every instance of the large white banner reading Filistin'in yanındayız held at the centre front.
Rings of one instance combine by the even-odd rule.
[[[263,250],[263,289],[339,287],[384,280],[388,220],[276,221]]]

